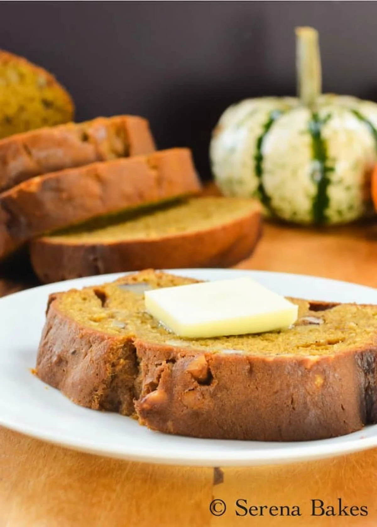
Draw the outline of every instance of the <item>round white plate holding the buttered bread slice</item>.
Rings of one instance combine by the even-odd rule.
[[[377,304],[377,290],[324,278],[262,271],[180,269],[177,275],[217,280],[249,274],[283,295]],[[71,403],[31,374],[51,292],[111,281],[120,275],[60,282],[0,299],[0,423],[77,450],[177,465],[259,465],[335,456],[377,446],[377,425],[310,442],[202,440],[151,432],[129,417]]]

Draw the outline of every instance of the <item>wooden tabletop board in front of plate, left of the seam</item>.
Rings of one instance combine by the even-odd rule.
[[[0,431],[0,525],[206,525],[211,469],[129,463]]]

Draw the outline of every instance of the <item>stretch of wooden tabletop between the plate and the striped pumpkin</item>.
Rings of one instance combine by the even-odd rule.
[[[323,276],[377,287],[377,225],[316,230],[266,223],[264,236],[243,269]]]

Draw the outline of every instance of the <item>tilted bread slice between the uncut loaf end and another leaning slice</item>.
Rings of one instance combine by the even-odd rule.
[[[148,121],[133,115],[16,134],[0,141],[0,191],[36,175],[154,150]]]

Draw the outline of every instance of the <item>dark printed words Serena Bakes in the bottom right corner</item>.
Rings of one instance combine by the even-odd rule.
[[[249,505],[247,500],[238,499],[235,503],[236,516],[368,516],[366,505],[345,505],[342,498],[334,503],[324,500],[310,501],[310,511],[299,505]]]

